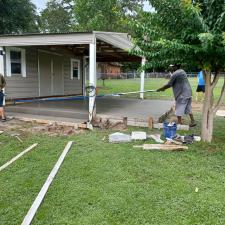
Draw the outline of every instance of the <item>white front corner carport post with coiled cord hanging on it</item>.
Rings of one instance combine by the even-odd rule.
[[[89,45],[89,86],[93,86],[89,93],[89,122],[96,114],[95,94],[96,94],[96,38]]]

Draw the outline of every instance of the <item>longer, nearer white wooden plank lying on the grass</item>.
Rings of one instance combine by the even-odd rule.
[[[31,224],[39,206],[41,205],[49,186],[51,185],[55,175],[57,174],[61,164],[64,161],[64,158],[66,157],[67,153],[69,152],[71,146],[73,144],[73,141],[69,141],[63,150],[62,154],[60,155],[58,161],[56,162],[55,166],[53,167],[51,173],[49,174],[47,180],[45,181],[44,185],[42,186],[39,194],[37,195],[36,199],[34,200],[32,206],[30,207],[27,215],[24,217],[24,220],[21,225],[29,225]]]

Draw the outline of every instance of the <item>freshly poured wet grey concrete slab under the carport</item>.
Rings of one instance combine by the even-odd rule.
[[[173,101],[164,100],[140,100],[127,98],[98,98],[96,101],[97,114],[109,117],[128,117],[147,119],[149,116],[158,119],[167,112],[173,105]],[[7,106],[6,111],[13,113],[32,114],[88,119],[88,100],[64,100],[64,101],[43,101],[15,106]]]

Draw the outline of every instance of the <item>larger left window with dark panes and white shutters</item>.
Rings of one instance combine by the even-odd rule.
[[[6,49],[6,70],[7,76],[21,75],[26,77],[26,58],[24,49]]]

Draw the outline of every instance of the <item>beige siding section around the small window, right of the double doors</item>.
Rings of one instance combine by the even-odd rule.
[[[74,57],[75,59],[79,59]],[[73,94],[82,94],[82,60],[80,60],[80,80],[71,79],[71,58],[67,57],[63,62],[63,71],[64,71],[64,94],[65,95],[73,95]]]

